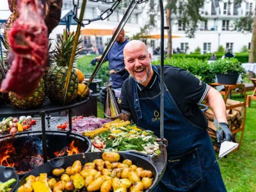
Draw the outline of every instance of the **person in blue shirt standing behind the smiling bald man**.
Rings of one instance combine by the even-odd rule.
[[[114,34],[116,28],[113,29],[112,34]],[[129,77],[129,72],[125,70],[124,65],[124,47],[129,41],[124,36],[124,29],[120,32],[116,38],[116,42],[110,49],[105,61],[109,61],[109,81],[113,83],[111,86],[114,89],[121,88],[125,79]],[[98,56],[91,61],[91,65],[96,65],[102,56]]]

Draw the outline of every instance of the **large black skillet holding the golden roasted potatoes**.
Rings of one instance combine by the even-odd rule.
[[[76,154],[73,156],[67,156],[67,157],[57,157],[52,159],[51,161],[42,164],[33,170],[31,172],[27,173],[22,177],[20,180],[20,185],[25,183],[26,177],[29,175],[35,175],[38,176],[40,173],[47,173],[48,176],[52,176],[52,170],[54,168],[67,168],[68,166],[72,166],[74,161],[79,160],[82,164],[92,162],[95,159],[102,159],[102,153],[103,152],[89,152],[84,154]],[[142,167],[144,170],[150,170],[153,175],[153,182],[152,186],[147,190],[151,191],[158,182],[158,172],[156,170],[156,167],[150,163],[150,156],[141,154],[138,152],[118,152],[120,154],[120,160],[119,162],[124,161],[124,159],[130,159],[132,161],[132,164],[136,164],[136,166]],[[86,191],[86,190],[84,190]]]

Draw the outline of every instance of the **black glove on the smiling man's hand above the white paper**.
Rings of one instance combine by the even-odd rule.
[[[221,144],[222,141],[232,141],[233,136],[226,123],[220,123],[220,128],[216,131],[216,141]]]

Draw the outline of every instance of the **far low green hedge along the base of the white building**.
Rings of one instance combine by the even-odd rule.
[[[223,56],[224,53],[216,53],[216,57],[219,59]],[[173,54],[172,58],[197,58],[199,60],[209,60],[211,54]],[[241,63],[248,63],[249,54],[246,52],[236,53],[235,58]]]

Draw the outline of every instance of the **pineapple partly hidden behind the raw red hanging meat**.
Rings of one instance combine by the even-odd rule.
[[[13,106],[20,109],[33,109],[40,107],[45,99],[44,79],[42,78],[33,95],[25,99],[19,99],[15,93],[9,93],[9,99]]]

